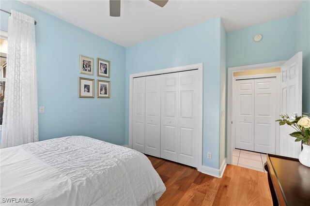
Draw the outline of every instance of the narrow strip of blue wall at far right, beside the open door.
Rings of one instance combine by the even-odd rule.
[[[302,111],[310,113],[310,1],[303,1],[296,14],[296,52],[303,52]]]

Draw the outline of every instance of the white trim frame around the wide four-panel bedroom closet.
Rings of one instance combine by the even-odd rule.
[[[141,77],[141,76],[150,76],[150,75],[158,75],[158,74],[168,74],[168,73],[175,73],[175,72],[184,72],[190,70],[198,70],[199,73],[199,148],[198,148],[198,171],[202,170],[202,115],[203,115],[203,64],[191,64],[186,66],[180,67],[172,67],[167,69],[161,70],[154,70],[149,72],[137,73],[137,74],[130,74],[129,75],[129,146],[130,148],[133,147],[133,82],[134,78]]]

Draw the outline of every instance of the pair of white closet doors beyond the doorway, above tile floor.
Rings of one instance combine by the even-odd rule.
[[[276,91],[276,78],[236,81],[236,148],[275,154]]]

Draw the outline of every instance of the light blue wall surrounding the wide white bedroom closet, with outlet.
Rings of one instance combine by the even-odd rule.
[[[203,63],[203,165],[219,167],[220,18],[126,48],[125,141],[129,74]],[[212,159],[206,152],[212,152]]]

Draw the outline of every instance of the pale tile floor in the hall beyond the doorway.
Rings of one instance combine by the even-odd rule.
[[[242,149],[233,149],[233,165],[266,172],[263,168],[265,162],[266,154]]]

